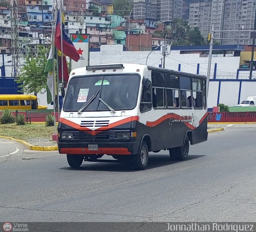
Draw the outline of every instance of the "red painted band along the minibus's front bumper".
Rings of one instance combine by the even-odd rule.
[[[74,154],[74,155],[131,155],[127,148],[108,148],[100,147],[98,151],[89,151],[88,148],[61,148],[60,153],[62,154]]]

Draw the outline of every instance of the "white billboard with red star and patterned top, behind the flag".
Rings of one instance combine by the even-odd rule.
[[[89,36],[87,34],[71,34],[71,41],[74,44],[80,59],[76,62],[70,60],[71,70],[89,65]]]

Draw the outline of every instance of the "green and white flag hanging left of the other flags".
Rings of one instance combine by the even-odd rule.
[[[52,47],[44,68],[44,74],[47,76],[47,103],[50,104],[54,99],[54,83],[53,83],[53,60],[52,60]]]

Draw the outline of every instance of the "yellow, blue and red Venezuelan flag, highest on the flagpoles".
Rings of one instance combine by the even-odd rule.
[[[69,56],[74,61],[78,61],[80,56],[76,51],[76,48],[70,38],[64,32],[64,23],[60,22],[60,11],[58,11],[58,18],[56,22],[56,29],[55,29],[55,39],[54,43],[58,50],[61,50],[61,33],[60,33],[60,23],[62,23],[62,44],[63,44],[63,54]]]

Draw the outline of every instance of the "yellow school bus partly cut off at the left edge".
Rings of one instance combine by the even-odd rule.
[[[37,97],[28,94],[0,94],[0,109],[47,109],[38,105]]]

